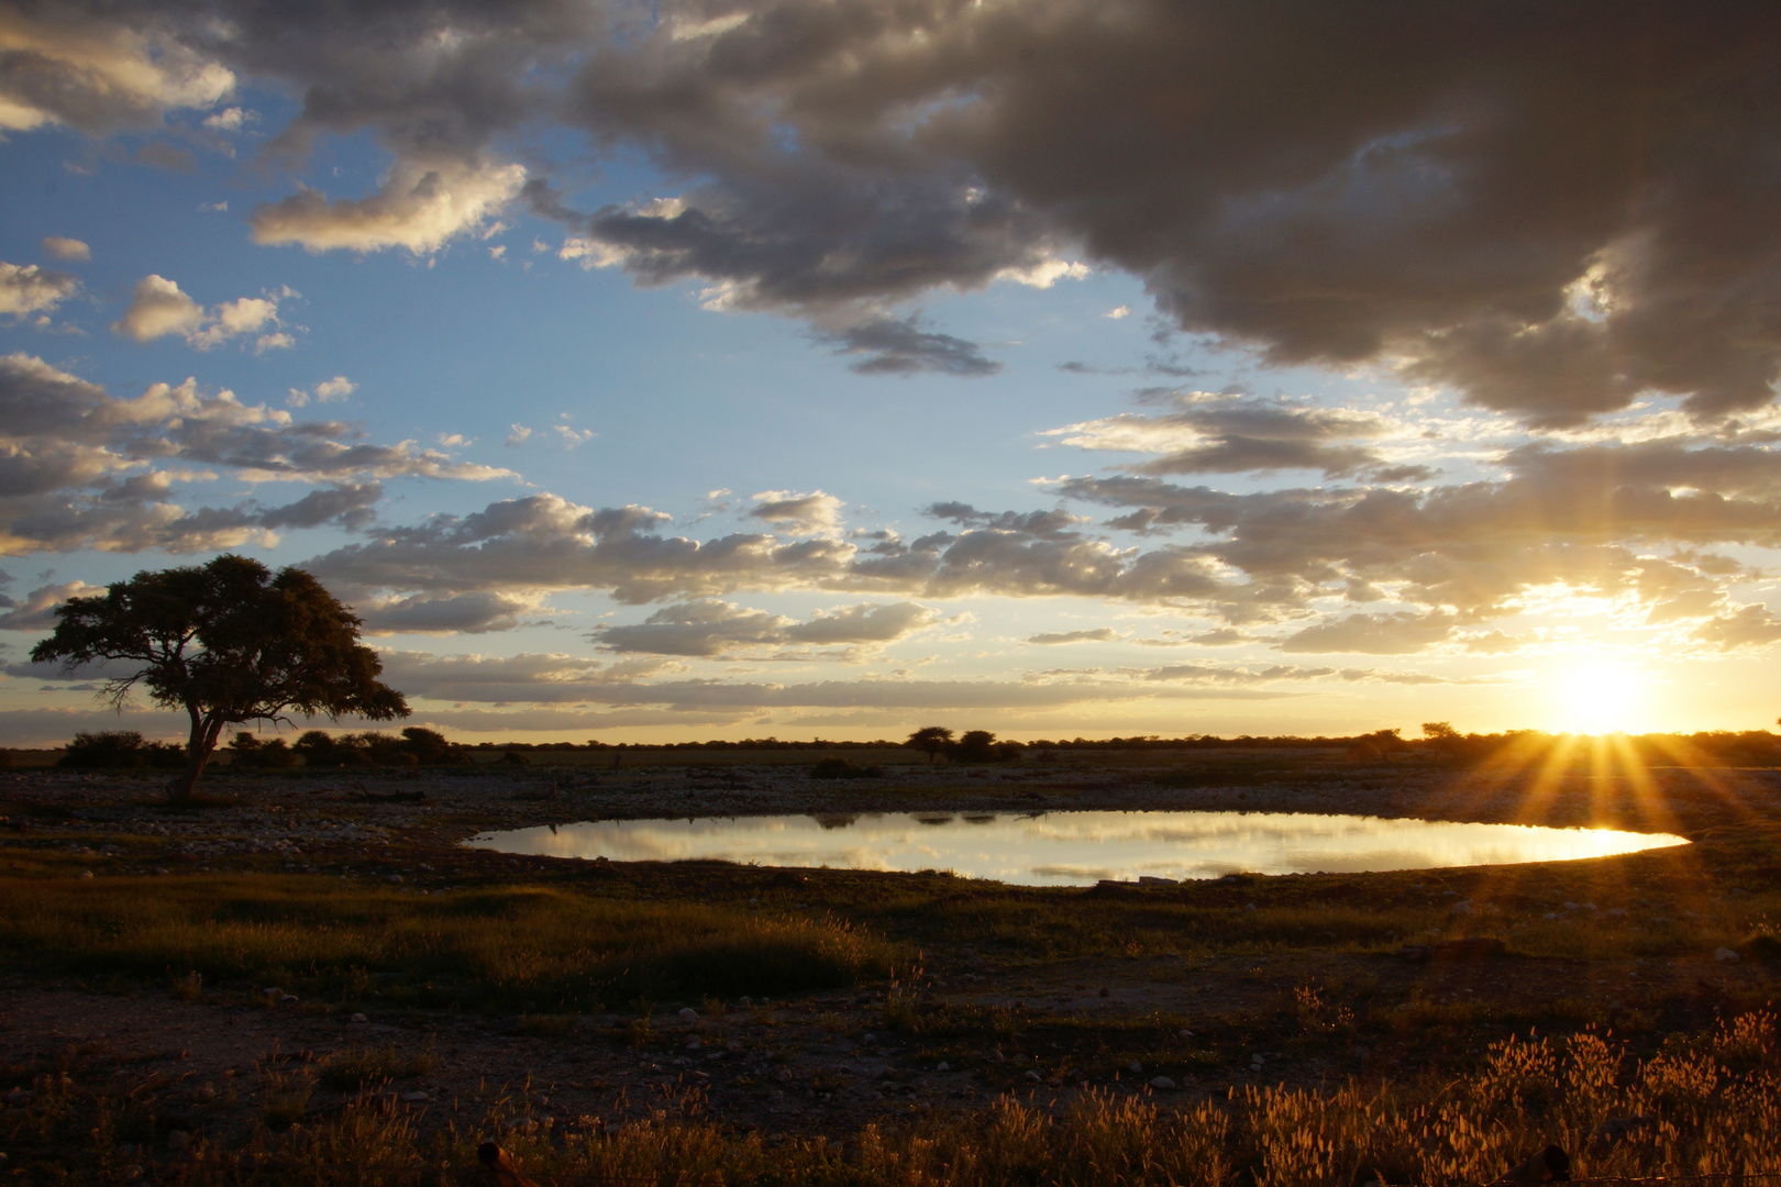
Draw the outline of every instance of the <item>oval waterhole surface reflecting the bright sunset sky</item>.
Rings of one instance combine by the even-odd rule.
[[[953,870],[1021,886],[1086,886],[1102,877],[1218,877],[1238,870],[1336,874],[1569,861],[1687,840],[1286,812],[1047,812],[597,820],[483,833],[467,844],[554,858]]]

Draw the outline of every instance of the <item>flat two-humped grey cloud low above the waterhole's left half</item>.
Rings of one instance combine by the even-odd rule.
[[[939,618],[937,610],[903,602],[841,607],[800,623],[782,614],[702,598],[664,607],[632,626],[602,626],[595,639],[609,651],[711,658],[798,644],[882,646],[924,630]]]

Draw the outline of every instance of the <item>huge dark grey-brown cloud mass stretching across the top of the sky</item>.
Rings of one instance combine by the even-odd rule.
[[[1183,329],[1546,424],[1642,390],[1754,408],[1781,363],[1767,4],[192,0],[37,4],[0,36],[18,126],[155,126],[255,80],[303,96],[287,158],[388,148],[376,194],[299,190],[265,242],[431,251],[524,194],[590,262],[848,349],[1081,253]],[[543,155],[509,158],[552,126],[679,192],[573,210]],[[990,365],[899,336],[864,365]]]

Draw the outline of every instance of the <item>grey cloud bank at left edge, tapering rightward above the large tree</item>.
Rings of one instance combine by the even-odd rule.
[[[305,482],[296,502],[189,505],[219,473]],[[296,422],[187,379],[114,399],[28,354],[0,358],[0,550],[196,552],[269,541],[280,530],[367,527],[394,477],[493,479],[411,441],[378,445],[338,422]]]

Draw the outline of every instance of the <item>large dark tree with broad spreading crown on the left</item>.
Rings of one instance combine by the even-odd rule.
[[[360,619],[297,568],[272,575],[223,553],[69,598],[55,619],[30,658],[61,660],[64,673],[105,662],[118,674],[100,696],[114,708],[142,685],[155,705],[185,710],[191,735],[185,769],[167,787],[173,803],[191,799],[226,726],[287,714],[408,715],[403,694],[378,680],[383,664],[358,641]]]

